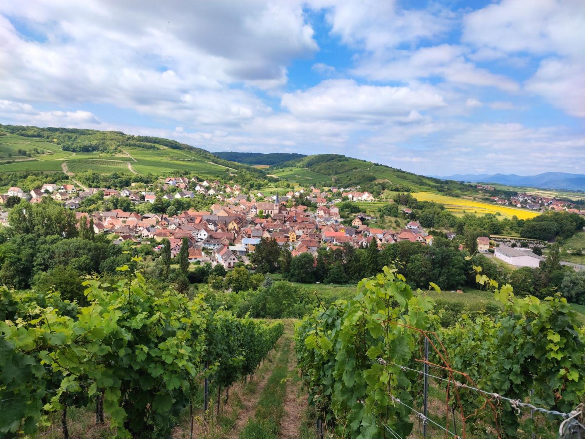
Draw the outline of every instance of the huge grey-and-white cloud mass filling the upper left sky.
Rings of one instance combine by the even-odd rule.
[[[280,87],[287,65],[318,49],[301,5],[284,0],[140,8],[33,0],[3,2],[0,13],[0,98],[106,103],[192,125],[266,114],[253,88]],[[44,40],[6,17],[26,20]]]

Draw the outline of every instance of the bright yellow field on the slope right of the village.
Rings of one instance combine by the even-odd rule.
[[[412,194],[418,201],[434,201],[435,203],[444,204],[445,207],[454,214],[467,213],[481,214],[495,214],[500,212],[502,217],[512,218],[514,215],[518,219],[534,218],[539,215],[539,212],[532,212],[529,210],[520,209],[500,204],[483,203],[482,201],[466,200],[465,198],[448,197],[445,195],[433,194],[431,192],[418,192]]]

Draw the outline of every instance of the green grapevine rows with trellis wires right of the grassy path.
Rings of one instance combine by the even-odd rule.
[[[463,438],[572,428],[585,396],[585,328],[560,296],[519,299],[476,269],[504,307],[495,319],[463,315],[441,328],[433,301],[388,267],[360,282],[355,299],[305,317],[298,367],[330,437],[405,438],[415,423]]]

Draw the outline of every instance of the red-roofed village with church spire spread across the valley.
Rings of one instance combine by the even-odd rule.
[[[349,243],[355,248],[364,248],[375,241],[378,246],[398,241],[419,242],[432,245],[428,235],[417,221],[410,221],[399,230],[369,227],[370,215],[360,212],[351,225],[342,224],[339,208],[335,203],[345,201],[373,201],[374,197],[358,188],[329,188],[328,191],[311,187],[289,191],[285,196],[241,194],[238,184],[230,186],[219,181],[197,181],[187,177],[167,177],[163,189],[168,193],[163,199],[193,198],[195,194],[211,197],[216,201],[209,211],[185,210],[176,215],[143,213],[114,209],[101,212],[79,212],[79,220],[87,217],[95,234],[111,234],[114,243],[125,241],[152,242],[154,251],[160,250],[158,242],[168,239],[171,255],[181,249],[183,238],[188,238],[189,260],[194,263],[220,263],[226,269],[236,263],[249,263],[248,255],[261,238],[274,238],[280,246],[288,246],[292,256],[312,253],[320,246],[338,248]],[[192,189],[192,190],[190,190]],[[133,204],[153,204],[157,194],[136,191],[132,188],[116,190],[109,188],[87,188],[78,191],[73,184],[43,184],[42,187],[25,193],[19,187],[11,187],[4,196],[19,197],[29,203],[40,203],[43,197],[51,197],[70,209],[78,208],[86,197],[102,192],[104,200],[112,197],[128,198]],[[174,192],[172,194],[171,192]],[[160,194],[159,194],[160,196]],[[309,210],[308,205],[316,206]],[[408,213],[408,209],[404,209]],[[7,225],[6,212],[0,214],[0,222]],[[454,234],[453,234],[454,235]]]

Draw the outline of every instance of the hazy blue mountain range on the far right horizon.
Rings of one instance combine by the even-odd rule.
[[[497,183],[507,184],[508,186],[585,191],[585,174],[569,174],[566,172],[545,172],[528,176],[516,174],[455,174],[429,177],[442,180],[469,181],[472,183]]]

